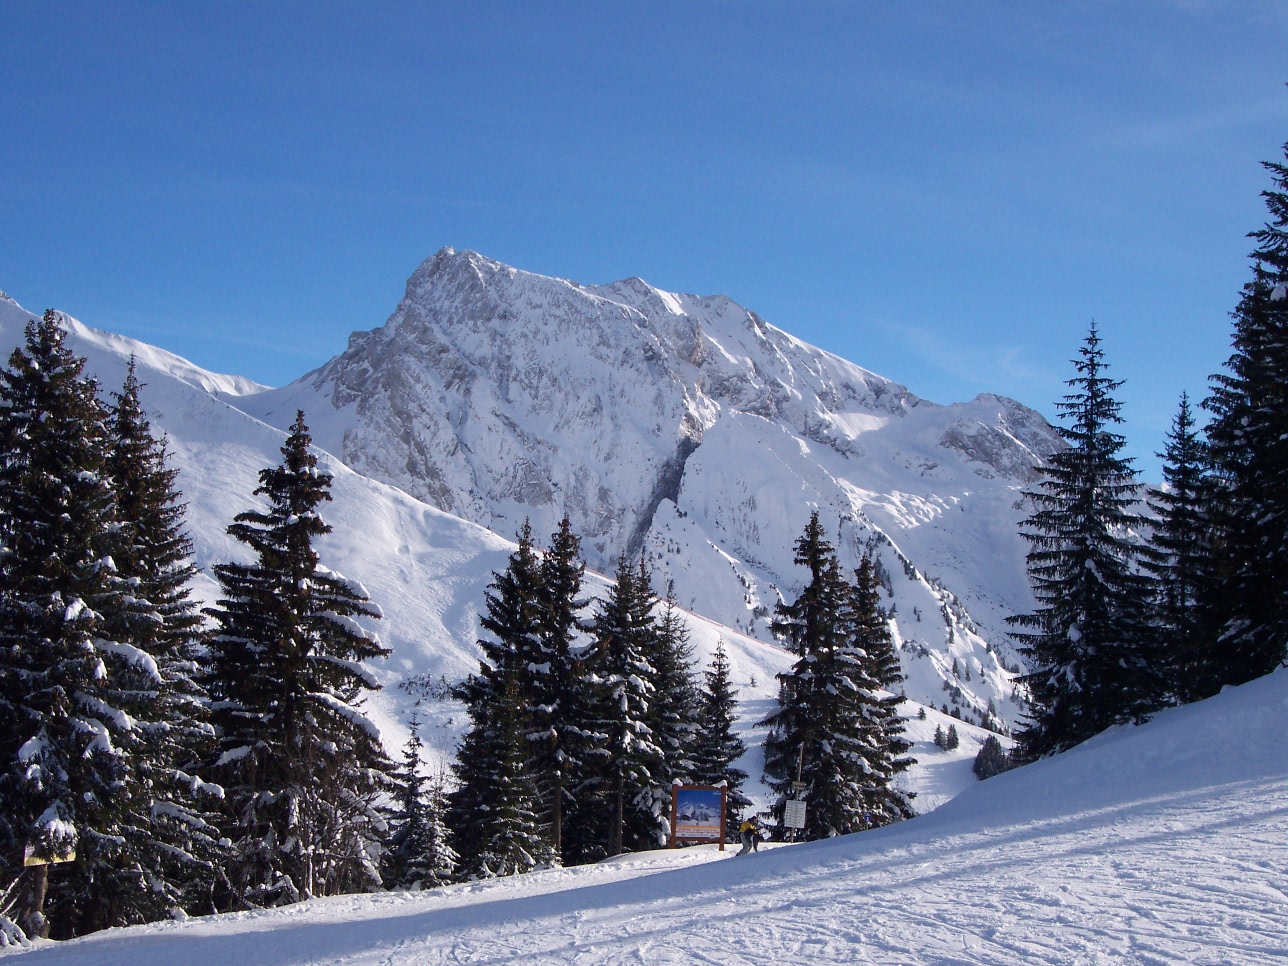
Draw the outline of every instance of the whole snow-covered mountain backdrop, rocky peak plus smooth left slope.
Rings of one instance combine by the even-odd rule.
[[[0,294],[5,357],[32,314]],[[951,719],[935,708],[981,719],[992,702],[1014,721],[1002,662],[1015,658],[998,618],[1029,603],[1016,488],[1052,439],[1016,403],[918,401],[728,299],[638,279],[589,289],[448,250],[416,272],[389,325],[354,335],[285,389],[64,323],[107,392],[135,357],[143,403],[180,471],[206,601],[211,565],[243,559],[225,527],[255,504],[258,471],[279,461],[295,408],[307,411],[335,474],[323,562],[361,580],[385,612],[376,630],[393,656],[372,668],[385,688],[371,715],[392,748],[416,701],[399,685],[477,666],[478,609],[513,549],[507,531],[531,516],[550,533],[564,510],[594,565],[640,550],[674,580],[703,665],[724,639],[752,775],[764,733],[751,725],[774,706],[774,674],[791,659],[765,616],[779,587],[800,586],[791,547],[814,507],[850,562],[869,546],[885,560],[907,690],[930,707],[909,721],[918,809],[972,783],[983,738],[960,725],[961,747],[936,750],[934,729]],[[438,469],[420,479],[415,468]],[[591,585],[607,582],[591,574]],[[420,715],[429,748],[448,759],[459,707],[430,699]]]

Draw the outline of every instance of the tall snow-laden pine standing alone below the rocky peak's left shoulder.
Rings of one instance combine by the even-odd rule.
[[[227,791],[229,908],[380,886],[374,846],[393,764],[362,714],[379,688],[359,662],[385,657],[355,618],[377,618],[366,590],[318,562],[313,541],[331,532],[318,506],[331,474],[309,450],[304,413],[282,464],[260,470],[265,511],[241,513],[229,536],[250,564],[218,564],[223,596],[207,689],[219,730],[214,777]]]

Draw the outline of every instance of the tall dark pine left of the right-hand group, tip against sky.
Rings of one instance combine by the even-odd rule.
[[[1140,573],[1131,531],[1136,482],[1123,457],[1122,422],[1095,323],[1074,361],[1074,389],[1056,406],[1069,447],[1025,491],[1029,583],[1038,608],[1007,618],[1029,658],[1032,703],[1018,735],[1019,759],[1072,748],[1113,724],[1140,721],[1162,701],[1160,657],[1151,644],[1150,581]]]

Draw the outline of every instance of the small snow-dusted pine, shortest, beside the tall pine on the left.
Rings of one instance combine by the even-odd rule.
[[[390,819],[380,876],[386,889],[433,889],[447,885],[457,855],[443,823],[442,782],[426,783],[421,774],[420,720],[412,715],[403,760],[394,773],[397,810]],[[428,784],[428,787],[426,787]]]

